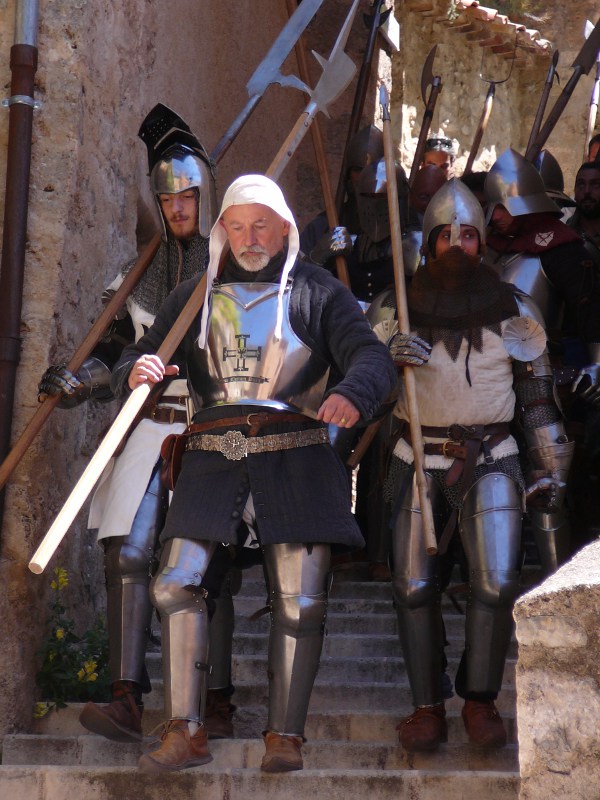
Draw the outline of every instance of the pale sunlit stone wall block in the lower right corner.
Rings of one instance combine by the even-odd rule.
[[[521,800],[589,800],[600,775],[600,542],[515,606]]]

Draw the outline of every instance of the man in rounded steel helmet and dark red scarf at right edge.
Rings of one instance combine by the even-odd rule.
[[[485,193],[492,228],[487,263],[540,309],[559,391],[579,387],[593,394],[599,385],[600,298],[581,238],[561,222],[540,174],[515,150],[492,166]],[[578,399],[585,401],[586,394]],[[561,394],[567,417],[572,400]],[[530,506],[528,515],[542,567],[550,573],[571,550],[566,509]]]

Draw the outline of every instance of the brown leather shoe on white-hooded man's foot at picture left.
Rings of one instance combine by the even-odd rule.
[[[158,750],[145,753],[138,761],[142,772],[177,772],[212,761],[203,725],[190,736],[187,720],[172,719],[165,724],[160,741]]]

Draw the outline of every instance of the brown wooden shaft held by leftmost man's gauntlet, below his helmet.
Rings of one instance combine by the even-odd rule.
[[[88,335],[75,352],[75,355],[67,364],[67,369],[70,372],[75,373],[81,368],[85,359],[96,347],[100,338],[106,333],[106,329],[115,318],[117,312],[124,305],[128,296],[137,286],[144,272],[148,269],[148,265],[156,255],[159,245],[160,236],[157,233],[146,245],[138,260],[123,279],[123,283],[106,304],[104,310],[90,328]],[[54,411],[60,399],[60,394],[48,395],[38,406],[37,411],[25,426],[23,433],[19,436],[12,450],[0,465],[0,489],[4,487],[12,471],[25,455],[29,445],[35,439],[50,414]]]

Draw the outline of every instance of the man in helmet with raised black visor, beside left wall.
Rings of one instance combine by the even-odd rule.
[[[208,263],[216,201],[206,151],[186,123],[163,105],[148,114],[139,136],[148,148],[163,240],[119,318],[81,370],[73,375],[64,366],[53,366],[44,373],[40,394],[60,394],[63,408],[90,398],[113,399],[111,368],[123,345],[139,339],[169,292]],[[133,264],[125,264],[105,294],[117,290]],[[167,507],[158,462],[163,439],[185,430],[187,396],[185,378],[153,396],[123,452],[102,476],[90,508],[88,525],[98,529],[104,549],[113,699],[106,706],[88,703],[80,720],[88,730],[116,741],[143,738],[142,691],[149,691],[144,657],[152,614],[148,586]]]

